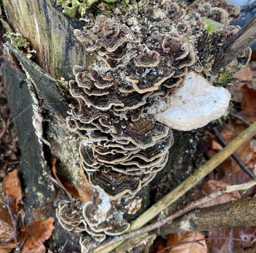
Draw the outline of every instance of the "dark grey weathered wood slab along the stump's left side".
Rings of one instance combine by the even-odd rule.
[[[43,108],[39,106],[40,99],[37,97],[39,89],[34,86],[33,79],[27,79],[19,61],[10,52],[10,47],[6,45],[4,46],[3,59],[4,61],[1,61],[1,76],[8,95],[10,111],[13,115],[11,122],[15,125],[22,151],[19,171],[26,196],[23,199],[23,208],[26,213],[25,224],[29,225],[34,219],[45,219],[54,214],[54,201],[58,192],[49,178],[48,162],[44,154],[47,147],[40,139],[43,137],[39,133],[43,124],[41,121]],[[24,56],[20,58],[20,61],[23,59]],[[28,70],[35,71],[35,77],[38,75],[38,80],[43,80],[43,82],[37,82],[37,85],[41,86],[42,89],[42,85],[48,85],[49,81],[44,79],[47,76],[42,77],[41,72],[35,70],[33,66],[36,65],[31,65]],[[39,66],[37,67],[39,68]],[[47,96],[44,97],[44,101],[47,101]],[[48,109],[51,109],[53,114],[61,115],[61,111],[58,111],[58,108],[54,109],[50,104],[51,101],[48,102],[51,106]],[[60,103],[61,101],[58,104]],[[60,125],[57,127],[61,133]],[[62,138],[61,134],[57,138]],[[74,250],[74,252],[77,250],[78,252],[78,238],[70,237],[70,234],[63,230],[58,223],[55,223],[54,226],[53,237],[58,242],[57,246],[63,245],[68,239],[68,242],[73,242],[74,245],[69,243],[66,249]]]

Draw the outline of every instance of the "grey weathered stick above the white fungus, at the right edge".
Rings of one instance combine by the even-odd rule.
[[[228,40],[222,47],[214,61],[212,69],[217,73],[223,66],[231,63],[241,52],[256,41],[256,16],[241,28],[234,37]]]

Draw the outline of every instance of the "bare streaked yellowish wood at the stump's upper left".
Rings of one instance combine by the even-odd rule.
[[[1,1],[8,23],[30,42],[37,52],[37,63],[52,77],[72,78],[74,65],[91,60],[73,36],[74,28],[82,27],[82,23],[63,15],[56,1]]]

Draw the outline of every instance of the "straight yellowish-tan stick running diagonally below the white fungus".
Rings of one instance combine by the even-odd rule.
[[[240,133],[238,137],[236,137],[232,142],[229,143],[224,149],[219,151],[212,157],[207,163],[205,163],[202,167],[195,171],[192,175],[190,175],[186,180],[184,180],[180,185],[178,185],[174,190],[169,192],[165,197],[163,197],[156,204],[151,206],[148,210],[146,210],[141,216],[139,216],[133,223],[130,228],[130,231],[138,230],[142,226],[144,226],[148,221],[155,218],[159,213],[161,213],[165,208],[169,207],[171,204],[177,201],[182,195],[186,194],[188,190],[196,185],[196,183],[200,182],[202,178],[208,175],[212,170],[214,170],[219,164],[227,159],[227,157],[231,156],[233,152],[235,152],[241,145],[250,140],[253,135],[256,134],[256,122],[252,123],[250,127]],[[120,242],[110,242],[107,245],[104,244],[94,249],[95,253],[108,253],[112,252],[118,245],[122,244],[123,241]]]

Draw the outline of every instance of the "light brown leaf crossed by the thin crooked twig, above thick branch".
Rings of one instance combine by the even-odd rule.
[[[203,192],[205,195],[208,195],[222,187],[227,187],[227,186],[229,186],[229,183],[223,182],[221,180],[208,180],[203,184]],[[217,197],[216,199],[206,204],[203,204],[201,207],[215,206],[218,204],[226,203],[226,202],[237,200],[240,198],[241,196],[239,192],[231,192],[230,194],[223,194],[220,197]]]

